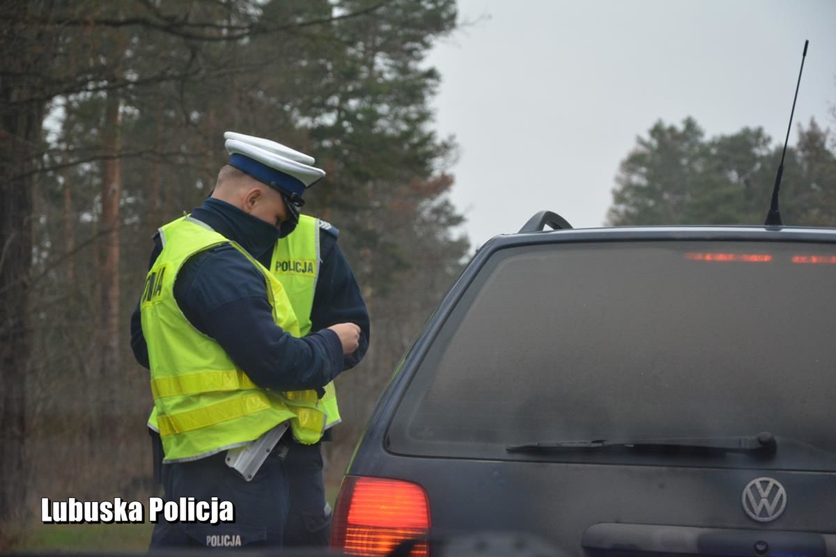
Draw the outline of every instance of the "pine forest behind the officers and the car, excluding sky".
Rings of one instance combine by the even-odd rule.
[[[423,63],[461,25],[455,1],[7,0],[0,21],[0,549],[27,546],[40,497],[158,493],[128,321],[151,235],[212,191],[226,130],[316,157],[328,175],[305,212],[341,230],[370,308],[369,354],[337,382],[333,493],[472,252]],[[785,222],[836,225],[833,135],[796,134]],[[778,140],[657,122],[620,165],[608,224],[758,224]]]

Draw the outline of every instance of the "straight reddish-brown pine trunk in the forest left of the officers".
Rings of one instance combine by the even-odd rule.
[[[104,132],[102,135],[104,160],[102,170],[102,215],[100,232],[102,242],[99,256],[99,285],[101,295],[102,342],[100,345],[99,375],[102,381],[98,396],[99,435],[104,431],[113,431],[116,424],[107,422],[107,416],[116,407],[115,385],[119,382],[120,361],[120,215],[119,202],[122,192],[122,173],[119,152],[120,134],[120,97],[111,90],[108,93],[104,114]]]

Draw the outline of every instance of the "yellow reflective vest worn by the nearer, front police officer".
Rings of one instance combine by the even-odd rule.
[[[326,421],[319,405],[257,387],[214,339],[191,325],[174,298],[176,276],[189,257],[229,244],[265,277],[273,321],[298,337],[298,322],[282,284],[235,242],[199,220],[183,217],[160,231],[163,249],[146,277],[140,315],[155,399],[149,424],[161,433],[166,462],[241,446],[287,420],[301,443],[319,441]]]

